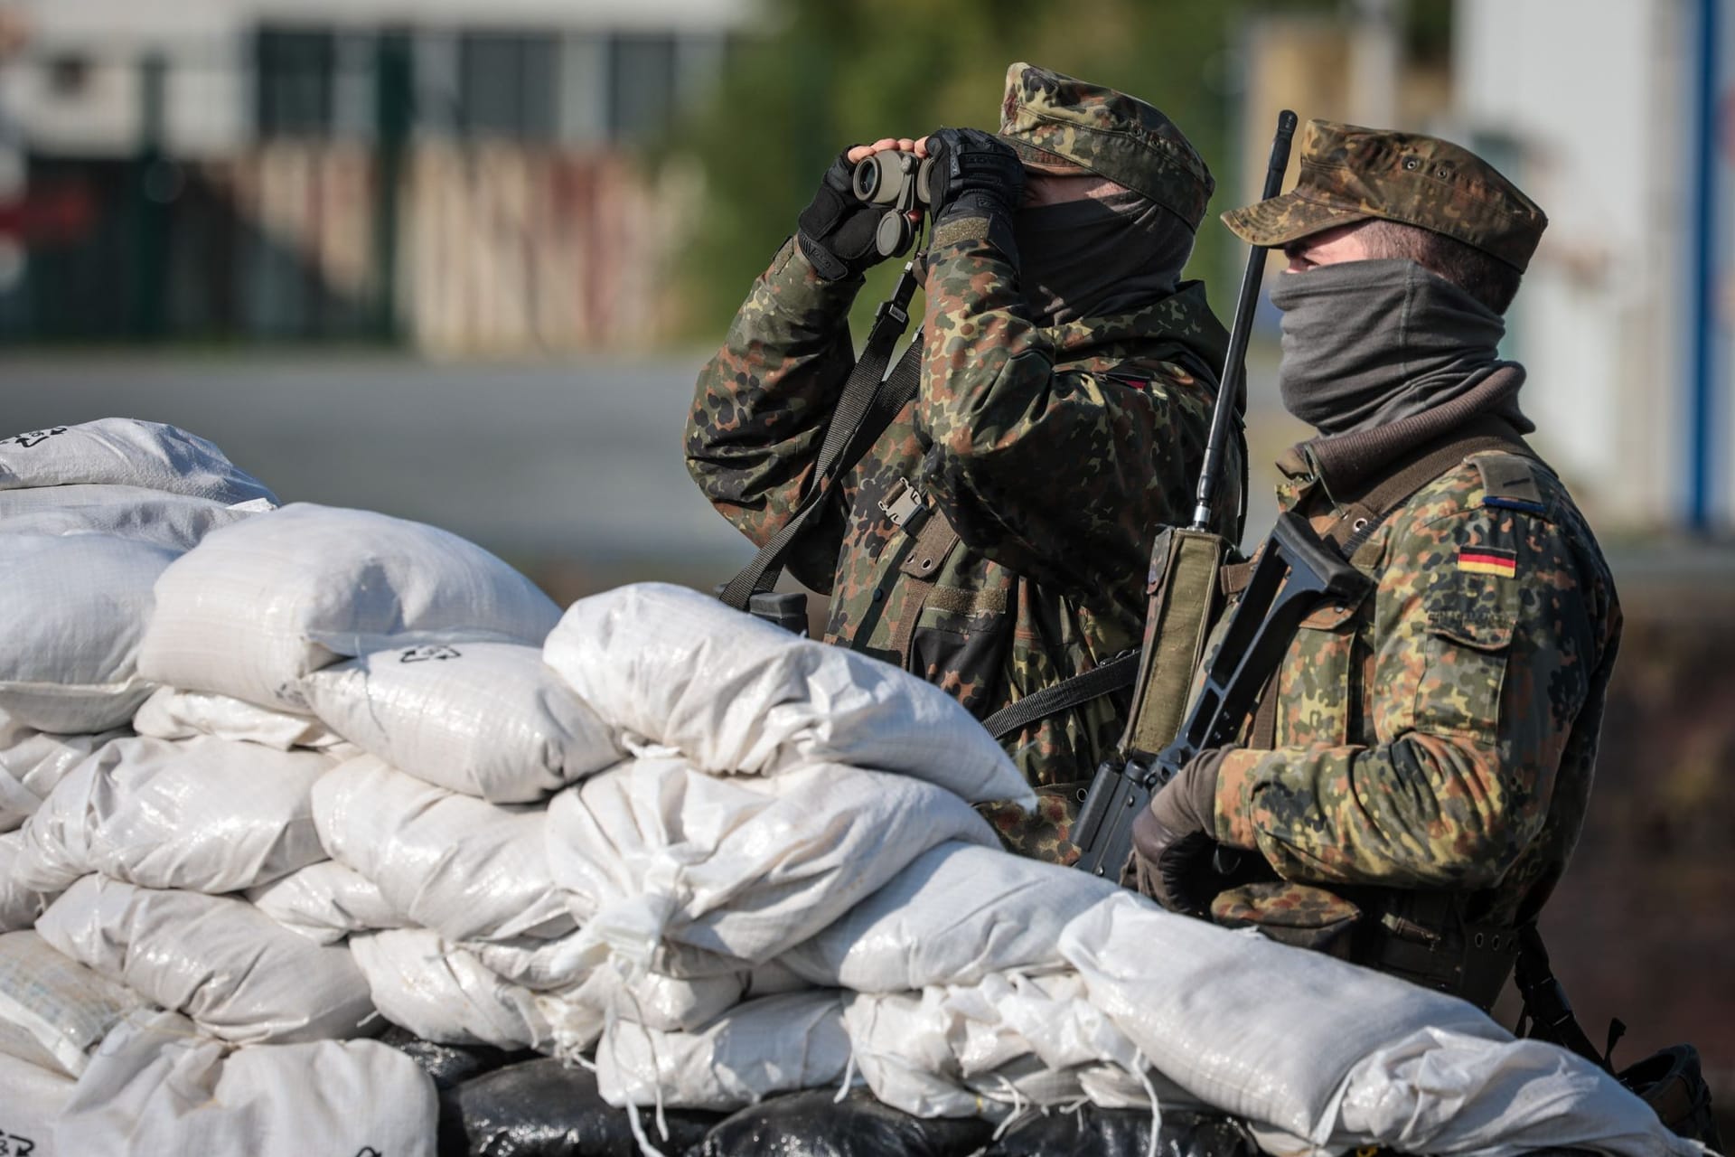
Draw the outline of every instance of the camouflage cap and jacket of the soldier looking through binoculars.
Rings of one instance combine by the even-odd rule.
[[[1013,64],[1001,135],[1027,165],[1090,168],[1195,229],[1204,163],[1168,118],[1117,92]],[[854,364],[861,279],[824,281],[791,239],[699,373],[687,467],[765,543],[795,512]],[[1183,520],[1227,335],[1199,283],[1116,317],[1039,328],[1015,262],[954,222],[926,258],[921,385],[803,534],[789,572],[829,593],[826,640],[897,663],[979,718],[1136,647],[1159,524]],[[1228,472],[1239,479],[1239,456]],[[900,529],[881,503],[913,487]],[[1237,533],[1227,487],[1220,529]],[[956,534],[956,543],[947,543]],[[1116,746],[1124,696],[1006,737],[1041,808],[991,808],[1008,843],[1070,862],[1076,793]]]

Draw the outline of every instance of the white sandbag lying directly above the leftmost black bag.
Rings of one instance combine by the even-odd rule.
[[[423,1041],[505,1049],[547,1049],[553,1041],[529,989],[501,980],[437,931],[363,933],[349,949],[380,1015]]]

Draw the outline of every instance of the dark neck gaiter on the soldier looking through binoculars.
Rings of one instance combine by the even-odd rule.
[[[1036,323],[1109,317],[1175,291],[1194,234],[1138,193],[1022,208],[1018,284]]]

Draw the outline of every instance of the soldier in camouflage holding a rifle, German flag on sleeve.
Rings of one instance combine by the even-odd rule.
[[[1357,581],[1133,820],[1140,886],[1487,1008],[1577,840],[1620,637],[1497,352],[1546,220],[1463,147],[1326,121],[1291,193],[1223,219],[1289,258],[1279,385],[1319,434],[1279,503]]]

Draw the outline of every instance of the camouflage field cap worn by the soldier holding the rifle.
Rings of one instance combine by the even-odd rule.
[[[1492,165],[1450,141],[1310,120],[1296,187],[1223,213],[1235,236],[1282,246],[1369,219],[1444,232],[1523,272],[1548,217]]]

